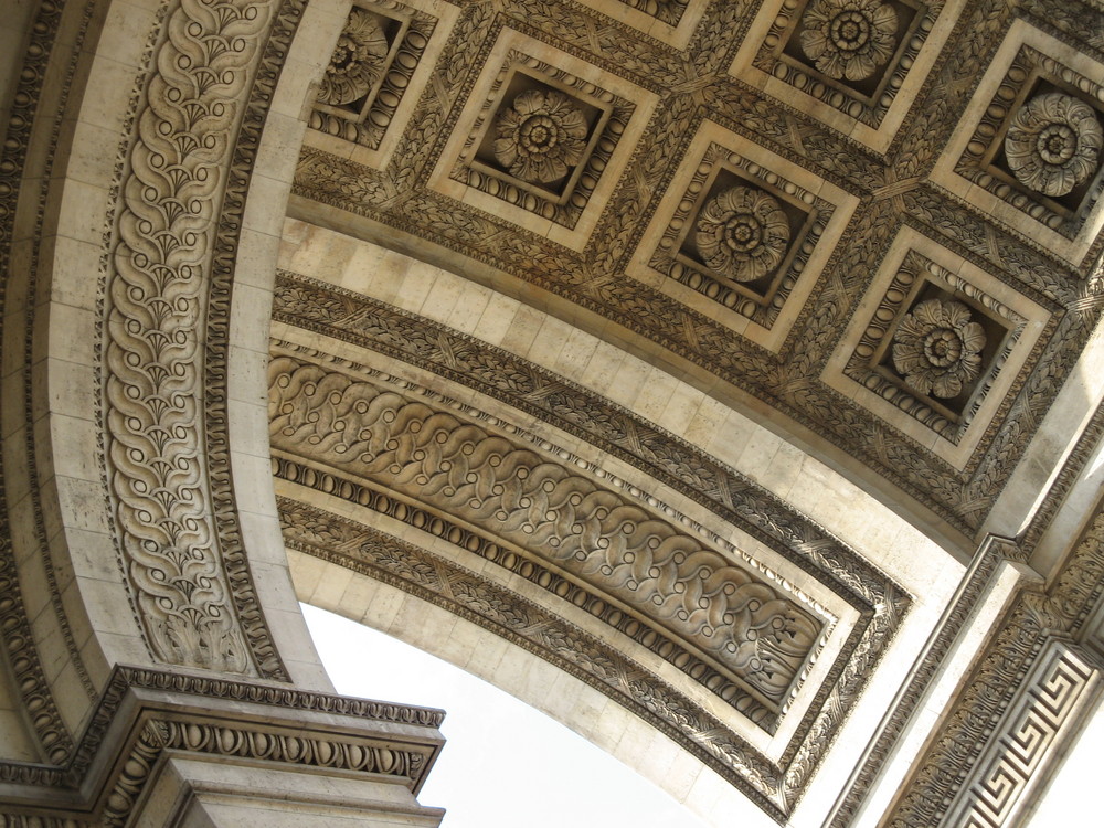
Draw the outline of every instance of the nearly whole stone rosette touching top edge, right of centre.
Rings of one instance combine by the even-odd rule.
[[[896,47],[896,11],[878,0],[817,0],[803,22],[802,50],[836,79],[867,79]]]

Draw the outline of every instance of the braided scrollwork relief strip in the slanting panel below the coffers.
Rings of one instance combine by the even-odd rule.
[[[269,369],[275,449],[461,517],[652,618],[775,705],[822,623],[666,520],[535,452],[344,374]]]

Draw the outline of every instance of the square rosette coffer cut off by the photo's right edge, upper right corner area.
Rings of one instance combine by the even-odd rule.
[[[1092,258],[1104,226],[1102,78],[1104,64],[1017,21],[933,180],[1074,265]]]

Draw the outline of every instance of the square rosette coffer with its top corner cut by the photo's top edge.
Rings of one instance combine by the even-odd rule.
[[[952,0],[773,0],[730,74],[883,151],[932,66]]]

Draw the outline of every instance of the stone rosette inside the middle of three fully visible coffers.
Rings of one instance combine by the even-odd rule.
[[[782,264],[789,223],[765,192],[734,187],[705,204],[694,238],[710,269],[735,282],[753,282]]]

